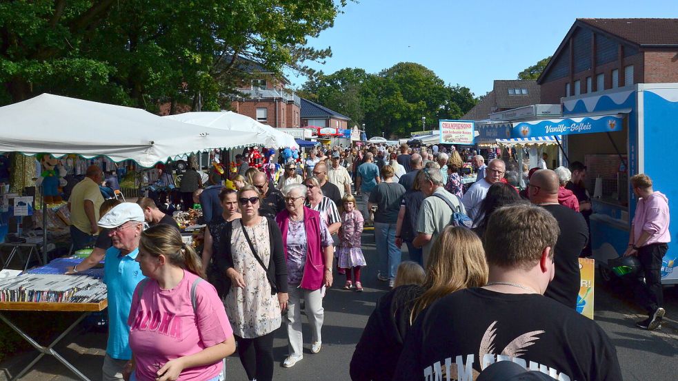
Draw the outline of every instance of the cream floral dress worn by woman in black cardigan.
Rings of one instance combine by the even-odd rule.
[[[271,287],[266,271],[259,265],[243,228],[246,229],[252,245],[264,265],[270,261],[270,236],[268,220],[254,227],[243,227],[241,220],[233,220],[231,236],[231,254],[233,268],[242,274],[245,288],[232,285],[223,302],[233,334],[241,338],[257,338],[280,327],[281,314],[278,298],[271,295]]]

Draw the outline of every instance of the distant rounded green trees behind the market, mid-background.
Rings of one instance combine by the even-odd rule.
[[[446,85],[419,63],[401,62],[377,74],[345,68],[303,84],[299,94],[365,124],[368,135],[409,136],[439,119],[459,119],[476,103],[468,87]]]

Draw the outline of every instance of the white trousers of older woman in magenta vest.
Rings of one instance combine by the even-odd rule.
[[[311,325],[311,342],[319,342],[322,341],[320,329],[323,327],[323,319],[325,318],[323,297],[321,296],[321,289],[310,291],[294,285],[288,287],[288,295],[290,299],[287,304],[287,338],[290,355],[301,356],[303,354],[303,338],[301,337],[301,309],[299,309],[301,305],[299,300],[303,298],[306,302],[304,311],[306,311],[306,318]]]

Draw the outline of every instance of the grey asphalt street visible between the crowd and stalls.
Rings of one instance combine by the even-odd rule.
[[[359,340],[368,316],[376,300],[386,291],[386,284],[377,281],[374,238],[372,231],[363,234],[363,249],[368,267],[363,273],[363,293],[344,291],[343,277],[335,274],[335,287],[325,299],[325,324],[323,326],[323,349],[318,354],[310,353],[310,331],[304,324],[304,358],[291,369],[280,367],[287,353],[287,340],[283,329],[277,332],[274,343],[275,380],[349,380],[348,364],[356,342]],[[406,258],[406,254],[403,256]],[[612,294],[613,292],[617,294]],[[648,332],[635,328],[641,320],[639,309],[625,302],[631,297],[626,289],[613,290],[596,287],[596,321],[610,336],[617,347],[624,380],[675,381],[678,374],[678,289],[665,290],[667,318],[659,331]],[[79,331],[57,351],[73,362],[92,380],[101,378],[101,364],[106,347],[106,334]],[[0,364],[0,381],[11,378],[22,369],[35,353],[21,353]],[[228,358],[228,380],[246,380],[245,373],[236,355]],[[76,380],[74,375],[54,358],[43,358],[23,380],[66,381]]]

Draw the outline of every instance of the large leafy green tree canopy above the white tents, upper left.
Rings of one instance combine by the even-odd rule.
[[[226,103],[253,61],[276,74],[323,61],[306,45],[346,0],[17,0],[0,3],[0,104],[42,92],[155,110]]]

